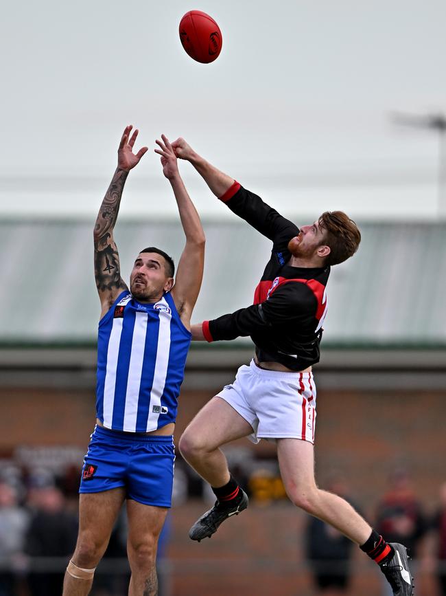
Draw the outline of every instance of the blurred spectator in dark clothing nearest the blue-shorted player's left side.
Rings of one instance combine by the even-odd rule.
[[[28,576],[31,596],[60,596],[65,566],[71,555],[78,533],[78,520],[65,507],[64,497],[52,485],[32,488],[31,505],[34,508],[25,542],[25,553],[31,557],[67,558],[60,570],[31,568]],[[32,562],[31,562],[32,564]]]

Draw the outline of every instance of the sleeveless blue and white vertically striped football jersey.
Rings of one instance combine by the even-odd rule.
[[[169,292],[154,304],[122,292],[99,321],[96,415],[102,424],[149,432],[174,422],[190,343]]]

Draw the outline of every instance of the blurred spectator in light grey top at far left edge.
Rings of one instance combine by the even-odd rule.
[[[0,596],[16,594],[16,574],[20,565],[27,528],[26,511],[17,504],[16,490],[0,482]]]

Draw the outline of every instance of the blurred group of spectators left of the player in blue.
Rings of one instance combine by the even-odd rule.
[[[78,531],[75,500],[70,496],[46,470],[21,476],[8,467],[1,474],[1,596],[60,592],[63,560],[71,555]]]

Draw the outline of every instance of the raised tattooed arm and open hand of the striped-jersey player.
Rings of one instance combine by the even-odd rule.
[[[134,155],[132,149],[137,139],[138,130],[136,129],[134,131],[129,140],[131,130],[132,126],[127,126],[121,137],[118,149],[117,170],[97,214],[93,234],[95,244],[95,278],[102,307],[101,318],[110,309],[110,306],[115,302],[121,291],[128,289],[126,283],[121,278],[119,254],[113,237],[113,228],[115,228],[119,203],[121,202],[122,191],[124,190],[128,173],[139,163],[139,160],[148,149],[147,147],[143,147]]]

